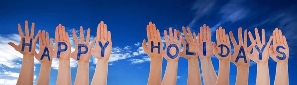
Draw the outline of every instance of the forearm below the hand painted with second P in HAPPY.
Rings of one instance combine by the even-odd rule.
[[[89,85],[89,62],[78,62],[74,85]]]

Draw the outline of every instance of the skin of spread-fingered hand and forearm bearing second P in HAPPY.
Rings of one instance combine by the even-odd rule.
[[[70,57],[73,58],[78,62],[78,67],[77,67],[77,72],[76,72],[76,77],[74,81],[74,85],[89,85],[89,60],[91,57],[91,49],[92,46],[95,42],[96,37],[94,40],[91,42],[89,45],[89,40],[90,40],[90,28],[87,30],[87,37],[86,41],[84,39],[84,30],[83,27],[80,27],[80,41],[78,41],[78,37],[76,35],[75,30],[72,30],[73,38],[75,41],[75,50],[70,54]],[[88,47],[87,53],[85,54],[80,54],[80,58],[78,59],[78,44],[83,44]],[[86,51],[86,48],[81,47],[81,52]]]

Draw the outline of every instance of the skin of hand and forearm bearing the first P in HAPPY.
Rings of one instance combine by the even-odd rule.
[[[67,45],[67,50],[61,51],[60,57],[58,54],[58,42],[64,42]],[[59,24],[55,31],[55,48],[53,50],[53,56],[59,60],[59,71],[56,85],[71,85],[71,71],[70,71],[70,53],[71,44],[69,40],[68,32],[65,32],[65,27]],[[61,45],[61,49],[65,49],[64,45]]]

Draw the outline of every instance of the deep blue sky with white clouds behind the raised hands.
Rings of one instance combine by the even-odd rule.
[[[295,10],[295,11],[294,11]],[[192,32],[198,32],[203,24],[211,27],[212,34],[219,26],[226,32],[237,33],[238,27],[254,33],[254,28],[264,28],[266,41],[272,31],[278,27],[287,37],[289,44],[289,83],[295,84],[297,68],[297,1],[267,0],[103,0],[103,1],[1,1],[0,3],[0,85],[17,81],[22,55],[8,42],[19,43],[17,24],[24,27],[25,20],[35,22],[35,34],[38,30],[49,32],[54,37],[55,27],[59,23],[66,27],[72,36],[72,29],[91,29],[91,38],[96,36],[100,21],[107,24],[111,31],[113,49],[109,60],[107,85],[146,85],[148,81],[150,59],[143,52],[141,42],[147,39],[146,25],[149,21],[156,24],[163,37],[163,31],[169,27],[181,30],[189,26]],[[31,24],[29,24],[30,27]],[[70,38],[71,39],[71,38]],[[73,37],[72,37],[73,39]],[[237,39],[237,35],[235,35]],[[212,41],[215,36],[212,36]],[[74,43],[71,40],[71,43]],[[38,44],[38,43],[37,43]],[[248,40],[248,44],[251,42]],[[72,49],[74,46],[72,46]],[[37,48],[36,51],[38,51]],[[74,51],[74,50],[72,50]],[[96,59],[90,59],[90,83],[94,74]],[[95,63],[94,63],[95,62]],[[218,59],[213,57],[214,69],[218,71]],[[163,60],[162,77],[167,61]],[[275,79],[276,62],[269,59],[270,82]],[[35,60],[35,79],[40,63]],[[58,61],[53,60],[50,85],[55,85]],[[72,84],[75,80],[77,62],[71,60]],[[257,65],[250,63],[249,85],[256,82]],[[186,85],[188,61],[180,58],[178,62],[177,85]],[[236,66],[230,63],[230,85],[235,84]]]

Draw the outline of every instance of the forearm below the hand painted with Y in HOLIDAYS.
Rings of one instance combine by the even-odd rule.
[[[257,63],[256,85],[270,85],[268,63]]]

